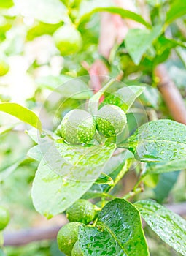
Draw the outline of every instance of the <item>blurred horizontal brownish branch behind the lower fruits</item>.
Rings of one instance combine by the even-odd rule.
[[[165,206],[182,217],[186,216],[186,203],[177,203]],[[56,239],[60,228],[61,226],[38,227],[18,230],[11,233],[6,232],[4,233],[4,246],[23,246],[34,241],[53,240]]]

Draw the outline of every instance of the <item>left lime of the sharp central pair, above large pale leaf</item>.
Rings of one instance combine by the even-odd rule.
[[[71,144],[88,143],[96,133],[96,122],[85,110],[71,110],[61,122],[61,135]]]

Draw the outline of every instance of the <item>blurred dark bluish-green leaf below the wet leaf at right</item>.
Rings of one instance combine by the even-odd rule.
[[[174,184],[177,183],[179,172],[162,173],[159,176],[157,186],[153,189],[155,193],[155,199],[158,203],[163,203],[163,200],[168,197]]]

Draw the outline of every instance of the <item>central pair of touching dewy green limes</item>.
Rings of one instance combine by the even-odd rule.
[[[120,135],[127,124],[125,112],[116,105],[104,105],[96,116],[85,110],[71,110],[64,116],[56,133],[67,143],[85,144],[93,140],[96,129],[106,138]]]

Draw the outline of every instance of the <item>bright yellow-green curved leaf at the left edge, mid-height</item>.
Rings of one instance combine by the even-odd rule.
[[[33,111],[28,110],[28,108],[24,108],[17,103],[6,102],[0,103],[0,111],[9,113],[10,115],[17,117],[21,121],[30,124],[32,127],[39,129],[40,132],[42,131],[42,123],[39,120],[38,116],[36,116]]]

